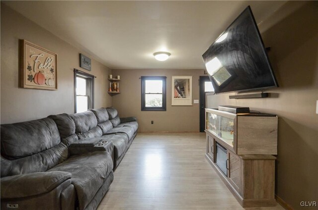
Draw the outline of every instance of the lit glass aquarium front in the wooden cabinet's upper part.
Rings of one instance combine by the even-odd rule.
[[[234,146],[234,119],[219,114],[206,112],[206,129],[220,137],[231,147]]]

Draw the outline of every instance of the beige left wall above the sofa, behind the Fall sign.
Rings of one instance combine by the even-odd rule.
[[[58,54],[58,90],[19,88],[19,39]],[[107,75],[110,69],[92,59],[92,71],[79,67],[76,48],[1,3],[1,124],[27,121],[49,114],[74,113],[73,69],[95,75],[95,107],[110,106]]]

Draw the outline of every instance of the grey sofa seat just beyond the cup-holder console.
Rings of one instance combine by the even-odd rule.
[[[121,157],[127,148],[128,137],[123,133],[109,134],[102,136],[104,141],[112,142],[114,145],[114,158]]]

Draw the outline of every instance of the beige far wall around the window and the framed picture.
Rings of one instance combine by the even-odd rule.
[[[203,70],[112,70],[120,75],[121,94],[113,96],[120,116],[137,116],[141,132],[199,132],[199,104],[171,106],[171,77],[192,77],[192,100],[199,99],[199,76]],[[141,76],[166,76],[166,111],[141,111]],[[192,101],[193,103],[193,101]],[[154,120],[154,124],[151,121]]]

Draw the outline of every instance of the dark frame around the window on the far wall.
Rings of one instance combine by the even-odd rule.
[[[146,80],[161,80],[162,81],[162,106],[161,107],[146,107],[145,88]],[[165,76],[142,76],[141,77],[141,110],[142,111],[166,111],[166,77]]]

